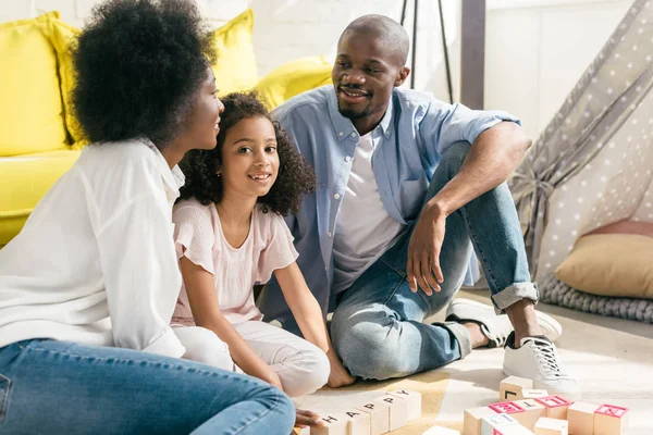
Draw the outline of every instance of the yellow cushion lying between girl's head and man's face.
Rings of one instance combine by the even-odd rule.
[[[256,89],[268,107],[274,109],[291,97],[331,84],[331,70],[324,57],[297,59],[261,78]]]

